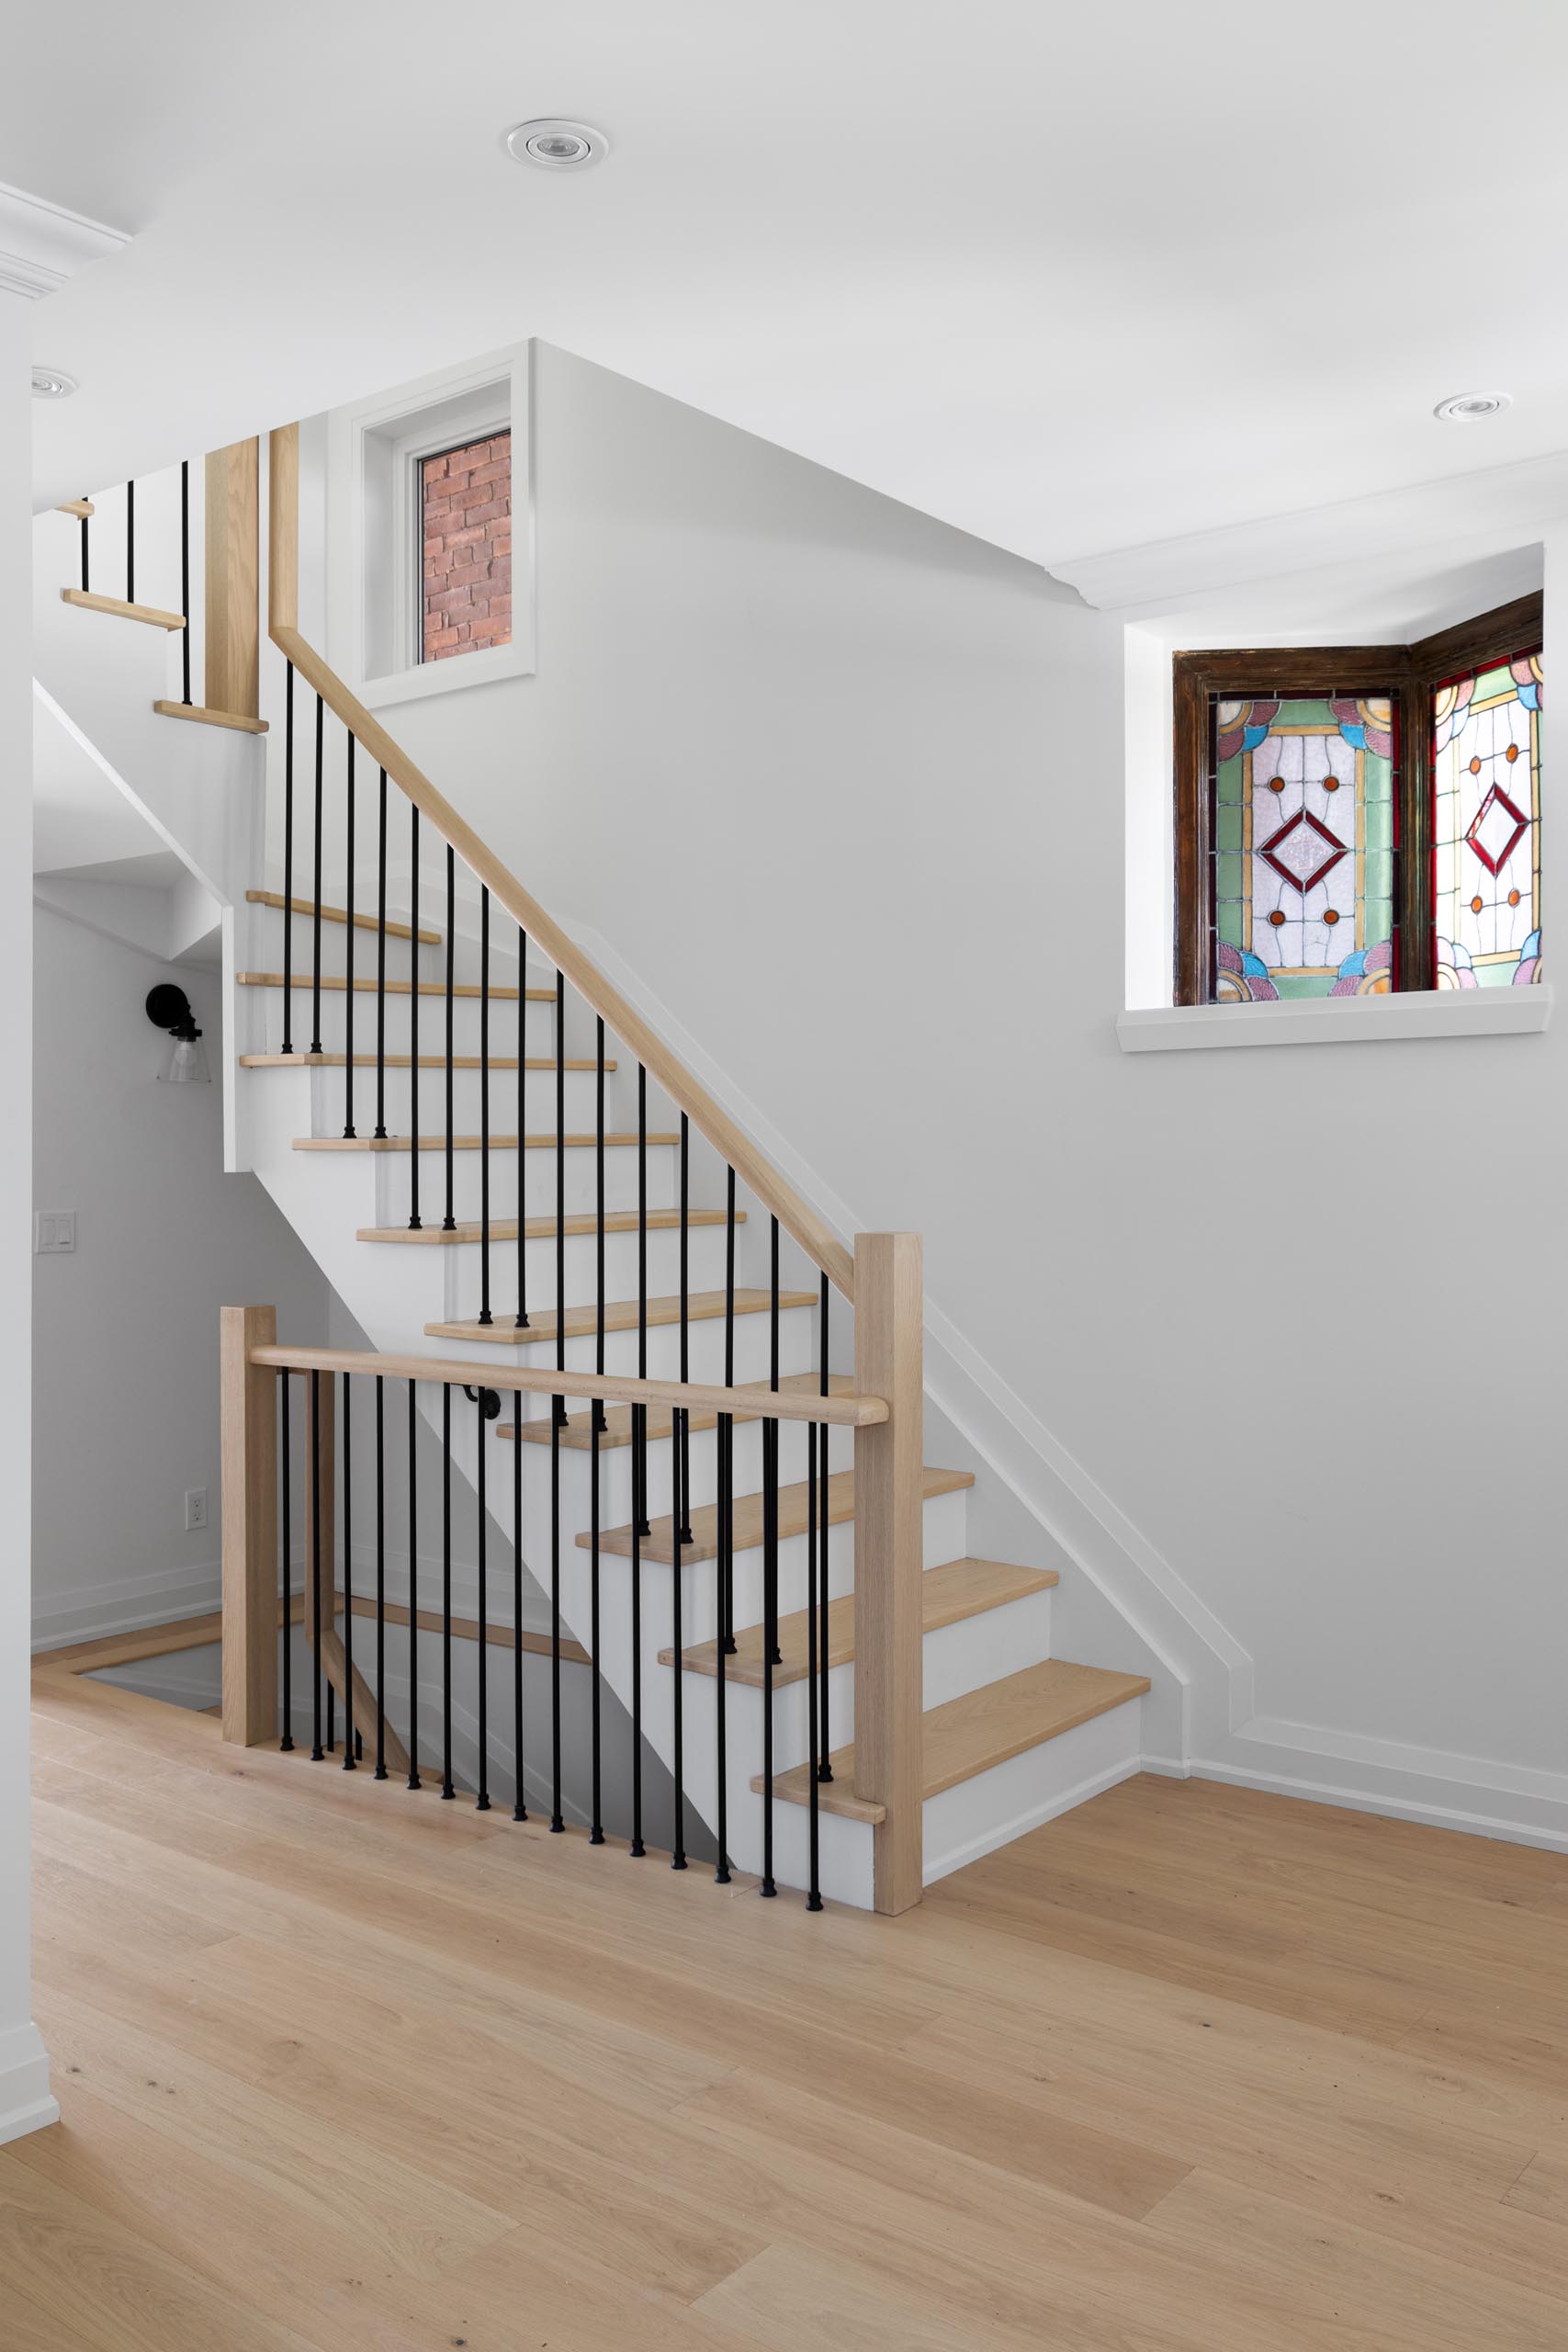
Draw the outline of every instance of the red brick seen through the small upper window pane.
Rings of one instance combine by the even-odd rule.
[[[512,435],[428,456],[421,661],[447,661],[512,637]]]

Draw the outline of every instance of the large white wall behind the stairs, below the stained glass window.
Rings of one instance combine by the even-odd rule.
[[[536,499],[538,675],[393,731],[856,1221],[924,1230],[976,1428],[1204,1628],[1190,1752],[1568,1809],[1568,1035],[1124,1058],[1119,621],[550,348]]]

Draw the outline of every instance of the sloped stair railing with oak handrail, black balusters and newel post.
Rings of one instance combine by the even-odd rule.
[[[425,1331],[437,1341],[458,1341],[475,1350],[475,1359],[458,1369],[454,1367],[428,1367],[418,1362],[418,1374],[407,1369],[400,1374],[409,1381],[409,1399],[414,1399],[416,1381],[433,1381],[451,1390],[451,1385],[477,1388],[480,1392],[515,1392],[522,1397],[541,1395],[548,1397],[550,1411],[550,1451],[552,1463],[557,1463],[559,1432],[567,1428],[567,1404],[569,1399],[590,1404],[590,1449],[592,1449],[592,1597],[590,1618],[592,1628],[599,1623],[599,1437],[604,1430],[604,1399],[623,1399],[630,1409],[630,1444],[632,1444],[632,1524],[639,1541],[646,1545],[654,1536],[654,1524],[649,1517],[649,1414],[656,1409],[670,1414],[670,1489],[672,1489],[672,1557],[677,1564],[686,1562],[686,1552],[693,1543],[691,1531],[691,1414],[712,1411],[717,1416],[717,1672],[719,1672],[719,1738],[722,1731],[722,1661],[736,1656],[736,1618],[733,1618],[733,1555],[736,1555],[736,1494],[733,1494],[733,1425],[736,1418],[762,1421],[762,1663],[764,1663],[764,1759],[759,1790],[764,1795],[764,1891],[771,1891],[771,1849],[773,1849],[773,1668],[783,1663],[778,1646],[780,1630],[780,1597],[778,1597],[778,1552],[780,1552],[780,1428],[792,1423],[804,1423],[806,1430],[806,1644],[809,1644],[809,1722],[811,1722],[811,1757],[809,1757],[809,1851],[811,1851],[811,1896],[818,1898],[818,1811],[820,1790],[835,1783],[835,1748],[832,1748],[832,1719],[830,1719],[830,1665],[832,1665],[832,1588],[830,1588],[830,1526],[839,1517],[832,1486],[830,1468],[830,1428],[839,1425],[842,1416],[830,1411],[835,1402],[835,1388],[851,1388],[860,1397],[884,1397],[891,1404],[886,1418],[865,1421],[856,1425],[856,1597],[853,1597],[853,1677],[856,1677],[856,1743],[853,1743],[853,1799],[860,1818],[875,1823],[875,1856],[877,1856],[877,1907],[879,1910],[903,1910],[919,1900],[922,1884],[922,1609],[919,1609],[919,1571],[922,1571],[922,1444],[919,1444],[919,1402],[922,1402],[922,1376],[919,1376],[919,1331],[922,1331],[922,1284],[919,1284],[919,1242],[912,1235],[893,1237],[867,1237],[863,1235],[856,1244],[856,1254],[830,1232],[820,1216],[795,1192],[795,1188],[771,1167],[764,1152],[736,1127],[736,1122],[724,1112],[724,1108],[708,1094],[705,1087],[682,1065],[682,1061],[665,1047],[665,1042],[649,1028],[642,1014],[604,978],[604,974],[592,964],[588,955],[571,941],[571,936],[538,906],[538,901],[522,887],[522,882],[496,858],[496,854],[480,840],[480,835],[465,823],[465,818],[444,800],[444,795],[430,783],[430,779],[416,767],[414,760],[402,750],[402,746],[381,727],[381,722],[357,701],[357,696],[346,687],[346,682],[329,668],[320,652],[299,630],[299,428],[287,426],[270,435],[270,501],[268,501],[268,635],[273,644],[284,656],[284,746],[282,746],[282,797],[284,797],[284,823],[282,823],[282,847],[284,847],[284,887],[282,887],[282,974],[240,974],[240,981],[259,981],[266,985],[282,988],[282,1056],[322,1065],[343,1068],[343,1145],[348,1148],[371,1148],[371,1150],[407,1150],[409,1155],[409,1228],[416,1232],[433,1230],[433,1218],[428,1218],[428,1192],[421,1195],[421,1160],[425,1152],[440,1150],[442,1167],[442,1214],[440,1214],[440,1240],[451,1244],[475,1242],[480,1249],[480,1312],[473,1319],[428,1324]],[[244,534],[244,499],[242,494],[233,503],[235,529]],[[221,534],[219,534],[221,541]],[[214,569],[223,569],[223,546],[214,550],[212,536],[212,499],[209,499],[209,548],[207,548],[209,576]],[[237,569],[244,569],[240,560]],[[296,682],[303,680],[306,691],[313,694],[315,708],[296,713]],[[296,724],[303,720],[303,724]],[[327,722],[341,729],[329,731]],[[369,788],[369,771],[376,774],[374,786],[374,835],[376,835],[376,908],[374,915],[355,906],[355,858],[353,847],[357,840],[357,802]],[[341,783],[339,783],[341,779]],[[393,837],[402,830],[402,823],[388,816],[388,783],[407,802],[407,849],[409,849],[409,896],[411,906],[407,910],[407,924],[388,917],[388,826]],[[324,811],[327,795],[343,793],[343,840],[348,844],[348,906],[331,910],[334,922],[346,927],[346,971],[331,974],[324,969],[322,960],[322,922],[324,922]],[[296,809],[303,797],[306,807]],[[440,978],[421,978],[421,943],[433,943],[440,938],[437,931],[425,929],[425,908],[421,901],[421,840],[428,847],[428,837],[442,849],[442,880],[444,880],[444,974]],[[299,896],[296,887],[306,882],[301,842],[310,842],[310,868],[308,889],[310,896]],[[468,882],[477,891],[477,976],[458,978],[458,936],[456,936],[456,908],[458,908],[458,866],[463,868]],[[266,894],[261,894],[266,896]],[[273,901],[275,903],[275,901]],[[294,953],[294,922],[296,917],[308,917],[308,969],[296,969]],[[508,962],[515,960],[515,985],[496,981],[494,950],[496,929],[503,924],[501,953]],[[357,969],[357,931],[374,929],[374,974]],[[388,971],[388,938],[409,943],[409,976],[400,978]],[[545,974],[552,978],[552,988],[531,985],[531,969],[543,964]],[[343,1044],[346,1051],[329,1051],[324,1044],[324,1000],[343,995]],[[301,1049],[296,1040],[296,1000],[301,1011],[308,997],[310,1018],[310,1042]],[[364,1030],[355,1033],[355,1007],[357,1000],[374,997],[374,1051],[364,1047]],[[407,997],[407,1047],[402,1054],[395,1049],[393,1023],[388,1018],[388,1007],[395,1007],[400,997]],[[458,1000],[475,1000],[480,1014],[480,1054],[461,1056],[456,1051],[456,1028],[454,1014]],[[529,1004],[538,997],[555,1002],[555,1042],[550,1056],[529,1056]],[[430,1054],[421,1051],[421,1002],[437,1000],[444,1014],[444,1035],[440,1042],[444,1051]],[[491,1047],[491,1016],[496,1009],[515,1004],[515,1054],[494,1051]],[[435,1007],[433,1007],[435,1009]],[[578,1056],[576,1063],[567,1058],[567,1028],[569,1023],[581,1023],[581,1016],[590,1021],[592,1054]],[[388,1040],[393,1037],[393,1044]],[[428,1033],[425,1033],[428,1037]],[[607,1063],[607,1040],[618,1040],[632,1056],[637,1065],[637,1131],[635,1136],[607,1136],[607,1094],[604,1077],[614,1063]],[[503,1040],[505,1042],[505,1040]],[[409,1136],[400,1138],[388,1131],[386,1124],[386,1075],[393,1065],[407,1065],[409,1070]],[[480,1134],[458,1136],[456,1134],[456,1070],[461,1065],[477,1068],[480,1087]],[[362,1136],[362,1117],[367,1110],[364,1089],[357,1084],[357,1073],[374,1068],[374,1129]],[[569,1134],[567,1127],[567,1073],[590,1070],[595,1077],[595,1124],[592,1131]],[[442,1110],[444,1124],[440,1134],[428,1136],[421,1124],[421,1070],[442,1073]],[[672,1103],[677,1112],[677,1127],[672,1131],[649,1131],[649,1077]],[[496,1131],[496,1082],[508,1084],[508,1112],[515,1110],[515,1136]],[[545,1089],[548,1112],[541,1122],[538,1115],[538,1089]],[[515,1091],[512,1091],[515,1089]],[[425,1091],[428,1101],[428,1091]],[[529,1117],[531,1112],[531,1117]],[[724,1169],[724,1209],[696,1211],[703,1223],[712,1223],[717,1216],[724,1221],[724,1294],[693,1301],[689,1284],[689,1235],[693,1225],[691,1209],[691,1129],[703,1136],[717,1152]],[[637,1211],[607,1211],[607,1176],[604,1155],[607,1145],[628,1145],[637,1152]],[[334,1148],[334,1145],[320,1145]],[[458,1223],[456,1218],[456,1152],[477,1148],[480,1152],[480,1218],[477,1223]],[[512,1216],[496,1214],[494,1190],[491,1190],[491,1155],[496,1150],[515,1150],[517,1155],[517,1178],[515,1200],[505,1207],[515,1209]],[[595,1192],[592,1211],[569,1214],[567,1207],[567,1152],[574,1148],[592,1148],[595,1152]],[[552,1216],[529,1216],[524,1167],[529,1150],[550,1150],[555,1167],[555,1214]],[[679,1211],[649,1211],[649,1150],[675,1152],[677,1183],[679,1183]],[[766,1244],[769,1244],[769,1279],[766,1287],[752,1287],[750,1291],[738,1289],[736,1282],[736,1242],[738,1225],[745,1223],[745,1211],[738,1207],[738,1183],[752,1195],[769,1218]],[[677,1223],[679,1230],[679,1296],[668,1301],[649,1298],[649,1261],[646,1242],[649,1228],[654,1223]],[[635,1230],[637,1235],[637,1378],[621,1381],[607,1376],[607,1282],[604,1282],[604,1251],[609,1230]],[[571,1308],[567,1301],[567,1237],[569,1235],[592,1235],[595,1242],[595,1298],[592,1305]],[[435,1232],[433,1232],[435,1237]],[[780,1275],[780,1240],[790,1244],[806,1258],[811,1268],[811,1282],[806,1289],[785,1289]],[[515,1242],[517,1251],[517,1296],[498,1298],[496,1284],[491,1279],[491,1251],[496,1244]],[[527,1289],[527,1256],[529,1242],[552,1242],[555,1244],[555,1308],[545,1308],[543,1315],[534,1301],[529,1301]],[[844,1376],[832,1374],[832,1334],[830,1334],[830,1305],[832,1289],[856,1305],[856,1381],[846,1383]],[[780,1317],[795,1308],[811,1308],[816,1317],[816,1364],[813,1374],[792,1376],[783,1383],[780,1362]],[[689,1327],[693,1310],[705,1317],[722,1315],[724,1319],[724,1395],[745,1397],[745,1406],[712,1406],[696,1404],[696,1397],[708,1397],[708,1390],[698,1390],[689,1381]],[[750,1388],[736,1388],[736,1317],[745,1312],[766,1315],[769,1334],[769,1378]],[[679,1381],[675,1383],[649,1383],[649,1324],[651,1322],[675,1322],[677,1345],[679,1345]],[[625,1324],[630,1329],[630,1322]],[[595,1371],[583,1376],[569,1371],[567,1367],[567,1341],[569,1336],[588,1338],[592,1336],[595,1348]],[[555,1341],[555,1369],[550,1374],[541,1371],[494,1371],[489,1364],[477,1364],[480,1357],[489,1352],[489,1345],[517,1348],[520,1343]],[[289,1371],[308,1374],[310,1392],[320,1392],[320,1376],[324,1369],[324,1357],[317,1355],[315,1362],[289,1362],[287,1367],[263,1367],[254,1362],[254,1345],[259,1345],[256,1334],[247,1343],[244,1364],[247,1378],[256,1371],[282,1371],[280,1385],[287,1390]],[[343,1367],[331,1367],[339,1374]],[[386,1378],[383,1371],[378,1378]],[[237,1381],[237,1374],[235,1374]],[[240,1383],[242,1385],[242,1383]],[[237,1395],[237,1388],[235,1388]],[[809,1409],[804,1409],[809,1406]],[[442,1406],[449,1411],[449,1404]],[[249,1425],[240,1406],[233,1406],[235,1428]],[[233,1418],[233,1416],[230,1416]],[[315,1421],[313,1421],[315,1428]],[[320,1454],[320,1442],[315,1444]],[[517,1454],[522,1454],[522,1416],[517,1428]],[[480,1444],[480,1458],[484,1458],[484,1444]],[[515,1475],[520,1477],[520,1463],[515,1463]],[[447,1468],[449,1477],[449,1468]],[[235,1491],[249,1496],[252,1479],[237,1477]],[[559,1489],[557,1489],[559,1491]],[[240,1508],[240,1505],[235,1505]],[[249,1503],[244,1505],[252,1508]],[[261,1508],[261,1505],[256,1505]],[[555,1526],[555,1552],[552,1564],[555,1585],[559,1588],[559,1524]],[[632,1592],[630,1609],[632,1616],[639,1611],[639,1562],[632,1569]],[[672,1576],[672,1595],[677,1611],[677,1635],[679,1635],[679,1592],[682,1573]],[[418,1618],[418,1595],[409,1595],[414,1621]],[[270,1606],[270,1602],[268,1602]],[[350,1611],[353,1616],[353,1611]],[[411,1623],[414,1623],[411,1621]],[[844,1611],[839,1611],[839,1623]],[[590,1646],[592,1646],[590,1628]],[[416,1630],[416,1628],[414,1628]],[[242,1639],[237,1656],[252,1661],[256,1651],[254,1639]],[[334,1693],[339,1684],[331,1679],[331,1642],[317,1649],[322,1668],[327,1670],[327,1705],[331,1712]],[[677,1639],[679,1658],[679,1639]],[[343,1661],[346,1665],[350,1661]],[[242,1670],[235,1668],[240,1675]],[[249,1663],[244,1668],[249,1672]],[[679,1668],[675,1670],[675,1755],[677,1755],[677,1778],[679,1778],[679,1748],[682,1748],[682,1696],[679,1696]],[[595,1684],[597,1686],[597,1684]],[[350,1691],[350,1677],[343,1682],[343,1691]],[[346,1705],[350,1698],[346,1696]],[[237,1708],[237,1703],[235,1703]],[[247,1724],[244,1733],[230,1731],[230,1736],[254,1736],[254,1724],[259,1715],[254,1708],[235,1712],[230,1708],[226,1722],[233,1726]],[[637,1708],[632,1710],[637,1715]],[[266,1708],[261,1710],[266,1715]],[[597,1757],[597,1715],[595,1715],[595,1757]],[[597,1764],[595,1764],[597,1778]],[[719,1788],[724,1776],[719,1773]]]

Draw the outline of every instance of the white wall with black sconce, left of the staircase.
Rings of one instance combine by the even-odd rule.
[[[214,1084],[158,1082],[158,981],[188,993]],[[75,1254],[33,1261],[40,1646],[216,1609],[219,1308],[270,1301],[289,1338],[327,1341],[315,1261],[254,1176],[223,1174],[221,1056],[216,971],[38,908],[33,1202],[78,1216]]]

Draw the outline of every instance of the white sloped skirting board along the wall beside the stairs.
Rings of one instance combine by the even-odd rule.
[[[823,1183],[602,931],[583,922],[567,922],[564,929],[708,1087],[736,1127],[766,1152],[832,1232],[853,1247],[853,1235],[865,1221]],[[931,1298],[926,1298],[926,1395],[1145,1646],[1147,1658],[1140,1670],[1152,1677],[1154,1689],[1143,1700],[1143,1722],[1147,1745],[1161,1766],[1182,1771],[1194,1752],[1213,1748],[1248,1722],[1251,1653]],[[1117,1663],[1131,1670],[1131,1661]]]

